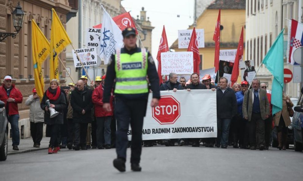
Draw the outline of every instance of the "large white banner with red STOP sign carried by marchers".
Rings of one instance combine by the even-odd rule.
[[[216,95],[212,90],[161,91],[159,106],[151,108],[150,94],[143,122],[143,140],[217,137]],[[129,128],[129,140],[131,134]]]

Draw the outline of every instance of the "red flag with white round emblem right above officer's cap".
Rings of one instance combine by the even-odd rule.
[[[117,24],[117,26],[120,28],[121,31],[123,31],[127,27],[132,27],[132,28],[135,28],[136,34],[138,34],[136,25],[132,21],[132,16],[130,16],[129,12],[115,16],[115,17],[113,17],[113,20]],[[93,27],[101,28],[102,24],[97,24]]]

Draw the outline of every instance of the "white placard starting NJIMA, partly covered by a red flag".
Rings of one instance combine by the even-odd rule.
[[[178,48],[187,49],[193,30],[178,30]],[[196,29],[198,48],[204,48],[204,29]]]

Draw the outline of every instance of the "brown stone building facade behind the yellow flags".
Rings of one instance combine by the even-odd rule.
[[[66,24],[67,14],[71,11],[66,0],[0,0],[0,31],[12,33],[13,27],[12,11],[20,2],[25,12],[23,27],[16,38],[6,38],[0,42],[0,81],[6,75],[13,78],[13,84],[21,91],[23,102],[19,107],[19,129],[21,138],[30,136],[29,130],[29,107],[25,105],[28,96],[34,88],[33,60],[32,60],[32,19],[34,19],[46,38],[50,40],[52,8],[54,8],[63,23]],[[60,55],[65,61],[65,52]],[[44,72],[45,89],[49,86],[49,58],[42,64]],[[59,66],[59,72],[64,73],[63,66]],[[61,74],[60,82],[64,83],[64,76]],[[9,125],[10,126],[10,125]],[[10,135],[10,134],[9,134]]]

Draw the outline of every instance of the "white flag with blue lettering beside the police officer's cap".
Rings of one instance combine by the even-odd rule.
[[[101,38],[98,48],[98,56],[104,60],[104,64],[108,64],[110,56],[115,53],[116,49],[123,46],[122,31],[103,8],[103,20],[101,29]]]

